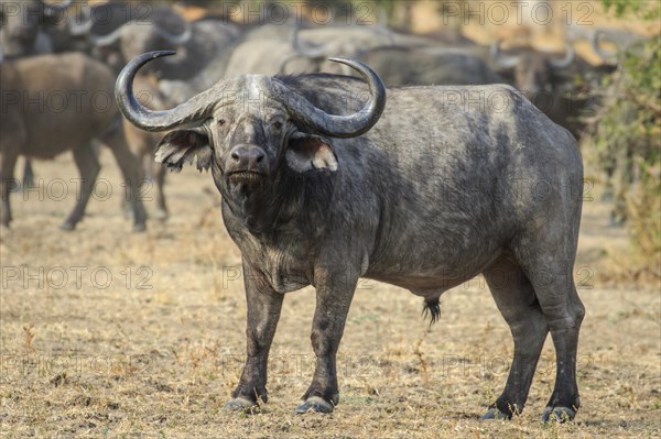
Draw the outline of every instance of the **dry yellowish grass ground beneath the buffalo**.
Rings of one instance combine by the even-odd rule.
[[[523,415],[510,422],[477,420],[500,392],[512,351],[479,279],[443,296],[441,320],[431,328],[418,297],[362,283],[339,352],[342,402],[330,416],[293,415],[312,376],[314,296],[308,289],[289,295],[272,349],[271,402],[262,414],[245,416],[221,410],[240,372],[246,306],[236,279],[239,252],[220,221],[210,176],[192,169],[169,176],[173,217],[133,234],[119,210],[119,177],[107,152],[102,163],[100,177],[113,183],[113,197],[90,201],[76,232],[57,229],[73,194],[63,201],[13,196],[15,223],[0,239],[0,437],[661,435],[659,292],[599,283],[603,254],[626,245],[626,237],[605,226],[607,210],[596,201],[586,202],[578,263],[595,276],[579,292],[587,317],[576,422],[539,420],[554,381],[550,341]],[[69,156],[36,163],[35,172],[44,185],[76,176]],[[77,266],[87,267],[80,285]],[[112,275],[107,288],[98,267]],[[14,268],[29,272],[12,279]],[[138,288],[148,276],[143,286],[151,289]]]

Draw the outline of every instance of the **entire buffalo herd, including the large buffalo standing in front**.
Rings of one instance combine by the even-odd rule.
[[[557,369],[543,420],[574,418],[584,316],[567,282],[583,194],[576,140],[582,111],[598,105],[589,86],[613,63],[592,65],[571,40],[557,52],[481,45],[397,31],[384,15],[241,22],[165,3],[0,4],[2,226],[19,156],[73,152],[82,197],[66,230],[84,216],[97,144],[129,182],[137,231],[143,178],[159,188],[150,215],[165,218],[164,168],[210,171],[248,304],[247,359],[228,409],[268,398],[284,293],[316,288],[316,369],[295,411],[329,413],[359,277],[421,296],[435,320],[445,290],[483,274],[514,341],[505,389],[483,418],[523,409],[548,333]],[[576,78],[587,78],[581,94]],[[499,283],[503,270],[516,282]]]

